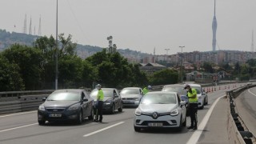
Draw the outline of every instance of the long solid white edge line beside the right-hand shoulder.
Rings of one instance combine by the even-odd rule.
[[[186,142],[187,144],[196,144],[198,142],[198,139],[200,138],[202,131],[205,129],[206,124],[210,118],[211,113],[214,110],[214,107],[216,106],[218,100],[220,98],[225,97],[226,95],[222,95],[221,97],[217,98],[212,106],[210,106],[210,109],[206,113],[205,117],[202,118],[202,122],[198,126],[198,130],[195,130],[194,133],[191,135],[190,139]]]

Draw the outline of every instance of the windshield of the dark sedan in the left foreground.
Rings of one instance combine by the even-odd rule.
[[[58,92],[50,94],[47,101],[79,101],[80,98],[78,92]]]

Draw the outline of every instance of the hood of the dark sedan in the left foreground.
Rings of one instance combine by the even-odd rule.
[[[46,101],[44,102],[45,107],[67,107],[74,105],[78,101]]]

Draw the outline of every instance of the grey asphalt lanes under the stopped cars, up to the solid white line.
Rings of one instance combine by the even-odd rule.
[[[213,107],[210,107],[214,106],[214,102],[216,104],[216,100],[225,95],[226,90],[223,89],[224,86],[222,86],[222,90],[208,93],[209,104],[203,110],[198,110],[198,130],[188,130],[184,127],[181,132],[162,129],[135,132],[133,126],[135,108],[124,108],[122,113],[104,114],[102,123],[91,122],[86,119],[82,125],[46,123],[46,126],[38,126],[37,111],[29,111],[0,115],[0,143],[169,144],[190,143],[190,141],[196,143],[198,140],[203,141],[207,134],[212,134],[205,130],[211,112],[214,110]],[[202,121],[202,119],[204,120]],[[190,117],[187,117],[187,126],[189,125]],[[223,129],[226,130],[226,128]]]

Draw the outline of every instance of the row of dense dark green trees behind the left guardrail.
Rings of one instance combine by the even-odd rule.
[[[14,44],[0,53],[0,91],[53,90],[55,60],[58,55],[58,88],[93,88],[163,85],[178,82],[178,72],[161,70],[147,75],[121,54],[106,49],[86,59],[76,54],[72,36],[58,35],[58,50],[53,36],[38,38],[33,46]],[[58,53],[58,54],[57,54]]]

